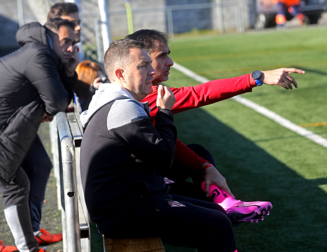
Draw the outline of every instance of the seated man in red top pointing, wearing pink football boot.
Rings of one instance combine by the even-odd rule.
[[[150,55],[152,66],[156,70],[152,81],[153,93],[146,96],[142,102],[148,101],[151,108],[150,115],[155,123],[157,88],[162,81],[168,80],[170,67],[174,64],[169,57],[169,37],[157,30],[139,30],[126,36],[128,39],[143,42],[146,52]],[[236,78],[209,81],[197,86],[170,88],[176,97],[172,113],[178,113],[192,108],[212,104],[233,96],[251,92],[252,88],[263,83],[280,85],[285,89],[292,89],[292,84],[298,85],[289,73],[304,73],[295,68],[281,68],[270,71],[254,71],[251,74]],[[135,156],[134,156],[135,157]],[[137,159],[136,162],[142,162]],[[204,178],[203,178],[204,174]],[[205,196],[221,205],[228,213],[234,224],[238,222],[258,222],[269,213],[272,208],[270,202],[255,201],[242,202],[234,199],[226,179],[215,168],[211,154],[198,144],[184,145],[177,140],[175,158],[169,173],[165,174],[166,183],[170,184],[171,193],[187,197],[204,199],[199,190],[202,187]],[[194,184],[185,182],[191,176]],[[204,180],[204,181],[203,181]]]

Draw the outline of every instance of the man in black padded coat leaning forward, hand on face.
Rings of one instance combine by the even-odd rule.
[[[0,58],[0,192],[19,251],[43,251],[34,238],[28,206],[29,180],[21,165],[42,121],[65,111],[78,64],[75,25],[51,19],[17,31],[20,49]]]

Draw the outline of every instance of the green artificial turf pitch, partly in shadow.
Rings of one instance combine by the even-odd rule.
[[[296,67],[299,88],[263,85],[242,95],[295,124],[327,121],[327,28],[179,37],[171,58],[214,80]],[[168,86],[197,85],[175,69]],[[233,194],[243,201],[270,201],[270,216],[235,227],[239,252],[327,251],[327,149],[234,100],[175,115],[178,137],[204,145]],[[327,138],[327,125],[308,130]],[[194,251],[165,246],[167,252]]]

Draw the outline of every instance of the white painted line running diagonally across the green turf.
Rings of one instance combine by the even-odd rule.
[[[210,81],[210,80],[204,78],[203,76],[196,74],[195,72],[191,71],[190,69],[188,69],[176,62],[174,62],[174,65],[172,67],[200,83]],[[327,139],[326,138],[323,138],[322,136],[317,135],[316,133],[313,133],[312,131],[304,129],[303,127],[301,127],[301,126],[291,122],[290,120],[287,120],[286,118],[276,114],[275,112],[265,108],[264,106],[261,106],[255,102],[253,102],[249,99],[246,99],[244,97],[241,97],[239,95],[234,96],[231,99],[253,109],[254,111],[264,115],[265,117],[270,118],[271,120],[277,122],[278,124],[284,126],[285,128],[287,128],[301,136],[304,136],[304,137],[314,141],[315,143],[327,148]]]

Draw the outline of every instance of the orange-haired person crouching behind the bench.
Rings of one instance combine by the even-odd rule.
[[[89,107],[89,103],[99,85],[103,82],[109,82],[105,77],[103,78],[103,69],[101,65],[90,60],[84,60],[78,63],[76,67],[78,76],[75,93],[79,98],[82,111]]]

